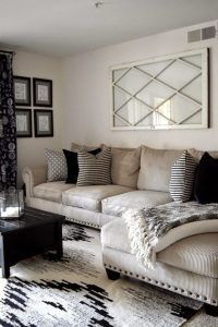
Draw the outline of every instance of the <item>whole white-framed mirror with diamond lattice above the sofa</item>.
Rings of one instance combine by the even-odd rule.
[[[208,49],[110,69],[112,130],[208,128]]]

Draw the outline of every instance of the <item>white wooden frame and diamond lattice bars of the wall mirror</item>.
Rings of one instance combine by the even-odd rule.
[[[202,58],[202,66],[196,65],[195,63],[191,63],[189,61],[185,61],[183,58],[186,57],[191,57],[191,56],[201,56]],[[110,88],[111,88],[111,130],[169,130],[169,129],[207,129],[208,128],[208,97],[209,97],[209,89],[208,89],[208,58],[209,58],[209,53],[208,53],[208,48],[204,48],[204,49],[197,49],[197,50],[191,50],[191,51],[184,51],[184,52],[180,52],[180,53],[174,53],[174,55],[167,55],[164,57],[157,57],[157,58],[150,58],[147,60],[143,60],[143,61],[137,61],[137,62],[132,62],[132,63],[125,63],[125,64],[120,64],[120,65],[116,65],[116,66],[111,66],[110,68]],[[167,64],[160,72],[158,72],[157,74],[149,74],[143,70],[141,70],[138,66],[141,65],[145,65],[145,64],[150,64],[150,63],[157,63],[157,62],[161,62],[161,61],[166,61],[166,60],[170,60],[170,63]],[[158,78],[158,76],[166,71],[169,66],[171,66],[171,64],[173,62],[182,62],[183,64],[185,64],[187,68],[190,66],[192,70],[193,68],[196,69],[196,72],[198,71],[198,73],[196,73],[196,75],[194,77],[192,77],[191,80],[189,80],[184,85],[182,85],[182,87],[174,87],[173,86],[173,81],[170,81],[169,83],[165,83],[161,81],[161,78]],[[124,73],[121,74],[116,81],[113,81],[113,76],[114,76],[114,72],[118,70],[124,69]],[[145,74],[146,78],[149,78],[148,82],[145,82],[145,84],[143,85],[143,87],[141,86],[135,93],[130,93],[129,90],[126,90],[125,88],[119,86],[117,83],[119,81],[121,81],[121,78],[123,76],[125,76],[131,70],[137,70],[141,71],[142,74]],[[189,95],[184,95],[182,92],[182,89],[184,87],[186,87],[187,85],[190,85],[193,81],[195,81],[196,78],[201,77],[201,84],[202,84],[202,99],[196,100],[194,99],[194,97],[189,96]],[[172,92],[172,94],[167,97],[160,105],[157,105],[156,107],[153,107],[148,104],[146,104],[145,101],[143,101],[142,99],[137,98],[137,94],[140,92],[142,92],[142,89],[146,88],[146,86],[148,84],[150,84],[153,81],[155,81],[158,84],[164,85],[165,87],[169,88],[170,92]],[[130,98],[128,100],[125,100],[123,104],[121,104],[121,106],[119,106],[119,108],[114,108],[114,88],[118,87],[121,92],[123,92],[125,95],[128,95]],[[162,113],[158,112],[157,109],[162,106],[164,102],[166,102],[167,100],[169,100],[170,98],[172,98],[173,96],[179,95],[182,96],[184,98],[186,98],[189,101],[193,101],[195,102],[195,105],[197,106],[196,110],[192,113],[190,113],[185,119],[182,119],[179,122],[172,121],[171,119],[165,117]],[[140,101],[141,105],[145,105],[146,108],[148,107],[150,112],[145,113],[145,117],[142,119],[140,119],[137,122],[135,123],[131,123],[130,121],[128,121],[125,118],[122,118],[119,116],[119,110],[126,105],[131,99],[134,99],[136,101]],[[193,116],[195,116],[196,113],[201,112],[202,117],[201,117],[201,123],[186,123],[185,121],[187,121],[189,119],[191,119]],[[158,116],[162,116],[164,119],[168,120],[170,122],[170,124],[154,124],[150,123],[149,125],[137,125],[140,122],[142,122],[146,117],[148,117],[149,114],[154,116],[154,114],[158,114]],[[114,119],[118,119],[119,121],[121,121],[123,124],[125,125],[116,125],[114,124]],[[153,120],[152,120],[153,121]]]

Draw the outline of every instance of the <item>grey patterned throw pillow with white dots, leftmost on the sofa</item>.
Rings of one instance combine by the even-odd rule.
[[[45,156],[48,165],[48,182],[64,181],[68,170],[63,153],[46,148]]]

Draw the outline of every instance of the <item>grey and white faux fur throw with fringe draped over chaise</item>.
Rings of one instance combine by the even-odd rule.
[[[218,219],[218,204],[169,203],[148,209],[129,209],[122,217],[128,226],[132,254],[145,268],[155,268],[155,247],[159,239],[183,223]]]

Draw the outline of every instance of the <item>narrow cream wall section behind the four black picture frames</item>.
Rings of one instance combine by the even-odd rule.
[[[60,98],[60,60],[50,57],[16,51],[13,61],[14,75],[49,78],[53,82],[53,122],[55,137],[17,138],[19,185],[22,184],[21,171],[25,166],[40,166],[45,164],[44,149],[61,147],[61,98]],[[33,90],[33,87],[32,87]],[[33,95],[33,92],[32,92]],[[25,107],[17,107],[25,108]],[[29,108],[29,107],[26,107]],[[33,109],[33,99],[32,99]],[[38,108],[43,109],[43,108]],[[46,109],[46,108],[45,108]],[[48,108],[51,109],[51,108]]]

